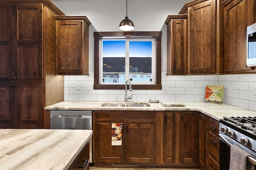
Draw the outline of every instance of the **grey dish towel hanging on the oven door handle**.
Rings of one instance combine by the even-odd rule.
[[[236,145],[230,147],[230,168],[229,170],[255,170],[254,164],[247,161],[252,156]]]

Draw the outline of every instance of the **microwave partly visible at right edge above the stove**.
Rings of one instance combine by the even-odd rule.
[[[246,65],[256,66],[256,23],[247,27]]]

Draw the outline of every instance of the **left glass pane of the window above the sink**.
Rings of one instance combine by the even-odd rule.
[[[102,42],[102,83],[125,82],[125,41]]]

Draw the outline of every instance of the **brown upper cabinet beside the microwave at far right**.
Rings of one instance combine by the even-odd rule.
[[[254,0],[226,0],[224,6],[224,72],[255,73],[246,67],[246,28],[255,22]]]

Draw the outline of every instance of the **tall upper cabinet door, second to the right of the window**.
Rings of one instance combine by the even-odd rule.
[[[188,74],[216,72],[216,0],[188,8]]]

